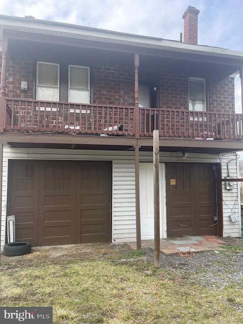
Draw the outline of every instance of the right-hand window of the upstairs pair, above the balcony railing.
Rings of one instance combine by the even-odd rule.
[[[68,101],[90,103],[90,69],[87,66],[69,65]]]

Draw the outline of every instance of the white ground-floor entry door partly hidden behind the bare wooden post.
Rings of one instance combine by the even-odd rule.
[[[159,165],[160,238],[166,237],[164,164]],[[139,164],[141,239],[154,238],[153,163]],[[163,217],[162,217],[163,216]]]

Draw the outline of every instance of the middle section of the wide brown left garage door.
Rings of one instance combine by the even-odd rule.
[[[74,244],[75,164],[43,161],[39,164],[39,175],[39,245]],[[72,190],[66,186],[67,179],[73,183]],[[48,212],[52,213],[51,222],[45,217]]]

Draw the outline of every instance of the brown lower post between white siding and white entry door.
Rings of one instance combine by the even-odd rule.
[[[135,146],[135,199],[137,250],[141,249],[140,188],[139,188],[139,146]]]

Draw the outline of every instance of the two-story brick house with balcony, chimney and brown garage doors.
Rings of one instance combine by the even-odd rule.
[[[184,42],[0,16],[2,245],[8,215],[33,246],[152,239],[154,129],[161,237],[240,235],[243,53],[197,45],[198,13]]]

